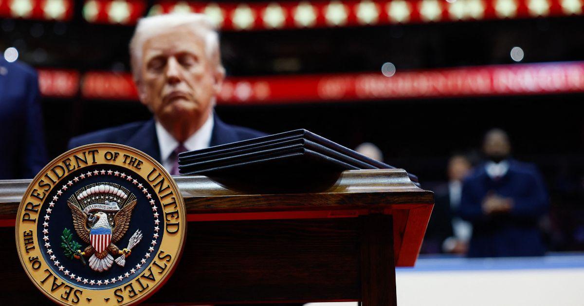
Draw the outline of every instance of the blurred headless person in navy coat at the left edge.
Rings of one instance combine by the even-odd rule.
[[[0,56],[0,179],[33,178],[47,163],[39,79]]]

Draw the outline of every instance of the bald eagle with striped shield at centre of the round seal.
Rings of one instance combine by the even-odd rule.
[[[137,230],[128,247],[120,249],[115,244],[130,227],[136,197],[120,185],[97,183],[75,192],[67,206],[71,209],[75,232],[88,243],[84,250],[75,250],[73,256],[84,264],[84,257],[89,257],[89,267],[94,271],[107,271],[114,261],[123,267],[131,249],[142,239],[141,231]]]

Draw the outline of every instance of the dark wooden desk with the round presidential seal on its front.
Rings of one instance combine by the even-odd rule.
[[[189,228],[178,268],[147,303],[363,301],[395,305],[395,266],[413,266],[433,194],[401,169],[344,171],[310,192],[239,190],[175,177]],[[0,286],[10,304],[46,304],[15,250],[30,180],[0,181]],[[259,188],[260,190],[261,188]]]

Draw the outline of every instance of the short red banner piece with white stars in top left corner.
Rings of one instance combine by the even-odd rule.
[[[70,20],[72,0],[0,0],[0,17]]]

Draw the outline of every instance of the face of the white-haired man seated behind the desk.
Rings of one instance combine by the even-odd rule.
[[[142,46],[140,101],[161,122],[206,119],[223,72],[211,63],[204,40],[186,27],[151,37]]]

